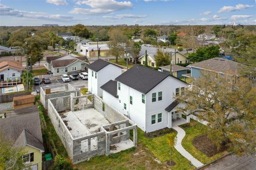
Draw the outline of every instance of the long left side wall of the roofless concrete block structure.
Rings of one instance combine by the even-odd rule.
[[[68,156],[73,159],[73,137],[65,123],[62,121],[59,113],[54,108],[54,105],[51,103],[51,99],[48,101],[48,108],[48,116],[51,119],[54,129],[65,146]]]

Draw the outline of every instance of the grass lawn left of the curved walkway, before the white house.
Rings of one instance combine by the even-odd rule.
[[[152,153],[153,155],[161,160],[161,162],[166,162],[170,160],[170,147],[168,145],[167,139],[169,135],[174,137],[177,135],[177,132],[165,134],[162,137],[156,138],[147,138],[144,135],[144,132],[138,129],[138,141],[143,143]],[[183,157],[175,148],[172,147],[172,161],[176,163],[176,165],[172,166],[172,169],[194,169],[194,166],[191,166],[189,160]]]

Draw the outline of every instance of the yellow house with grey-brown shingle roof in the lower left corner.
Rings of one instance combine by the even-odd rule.
[[[44,145],[37,106],[15,109],[9,115],[0,119],[2,138],[24,149],[22,159],[27,167],[41,170]]]

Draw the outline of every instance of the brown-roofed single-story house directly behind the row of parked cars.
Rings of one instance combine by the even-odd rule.
[[[68,74],[71,72],[84,71],[86,68],[86,57],[74,57],[71,55],[46,57],[46,69],[54,75]]]

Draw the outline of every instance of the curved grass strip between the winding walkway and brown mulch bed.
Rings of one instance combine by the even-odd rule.
[[[205,125],[197,122],[194,126],[181,126],[186,132],[185,138],[182,140],[182,146],[196,159],[198,159],[203,164],[209,163],[214,159],[217,159],[218,157],[221,157],[222,155],[226,154],[227,152],[220,152],[212,157],[206,156],[203,152],[196,149],[196,147],[193,145],[193,140],[198,135],[203,135],[207,132],[207,128]],[[203,143],[203,142],[202,142]]]

